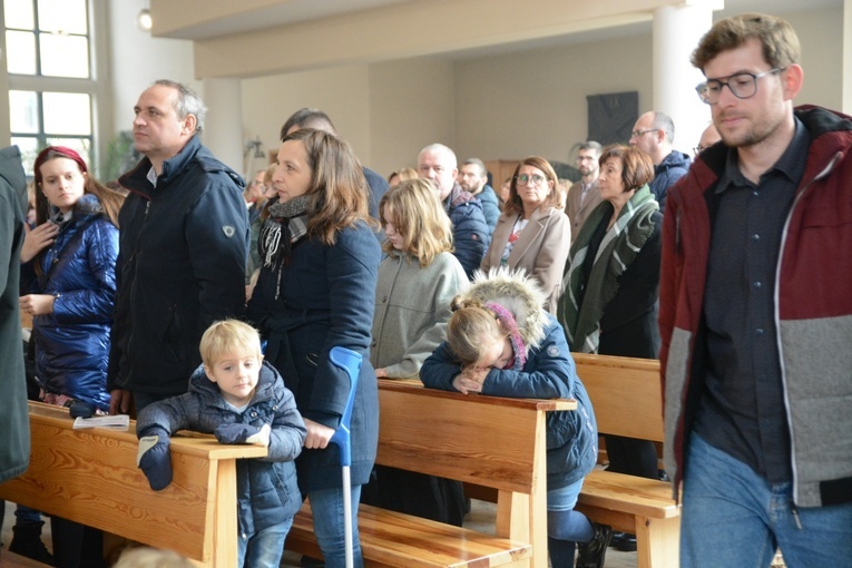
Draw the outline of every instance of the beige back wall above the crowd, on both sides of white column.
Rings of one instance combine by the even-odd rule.
[[[797,104],[840,108],[841,16],[839,9],[785,14],[803,45]],[[640,33],[456,61],[400,59],[244,79],[245,136],[277,148],[286,117],[316,106],[383,176],[415,165],[420,148],[433,141],[451,146],[459,159],[538,154],[568,160],[571,146],[586,139],[588,95],[637,90],[639,111],[649,107],[650,60],[650,35]],[[709,110],[695,120],[706,124]],[[675,141],[689,151],[697,140]]]

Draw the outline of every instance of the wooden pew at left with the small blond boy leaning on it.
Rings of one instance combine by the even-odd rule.
[[[236,460],[264,457],[266,448],[175,435],[172,484],[151,491],[136,467],[134,421],[128,431],[74,430],[67,409],[29,404],[30,466],[0,484],[0,499],[175,550],[198,566],[236,566]]]

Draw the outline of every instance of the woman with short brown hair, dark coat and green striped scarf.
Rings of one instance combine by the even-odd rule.
[[[620,145],[605,148],[599,164],[604,200],[571,245],[557,316],[571,351],[656,359],[663,215],[648,188],[654,164],[639,148]],[[659,477],[653,442],[604,438],[609,471]]]

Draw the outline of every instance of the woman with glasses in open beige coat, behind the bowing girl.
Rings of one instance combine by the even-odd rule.
[[[491,246],[479,266],[486,273],[500,266],[526,271],[545,291],[545,309],[552,314],[571,246],[571,223],[559,207],[558,184],[545,158],[530,156],[518,164]]]

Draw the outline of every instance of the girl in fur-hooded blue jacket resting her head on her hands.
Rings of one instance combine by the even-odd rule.
[[[562,326],[543,310],[545,294],[523,272],[477,273],[453,300],[447,341],[425,360],[427,386],[464,394],[576,399],[552,412],[547,429],[548,546],[554,568],[601,567],[611,535],[575,511],[582,480],[597,460],[597,424]]]

